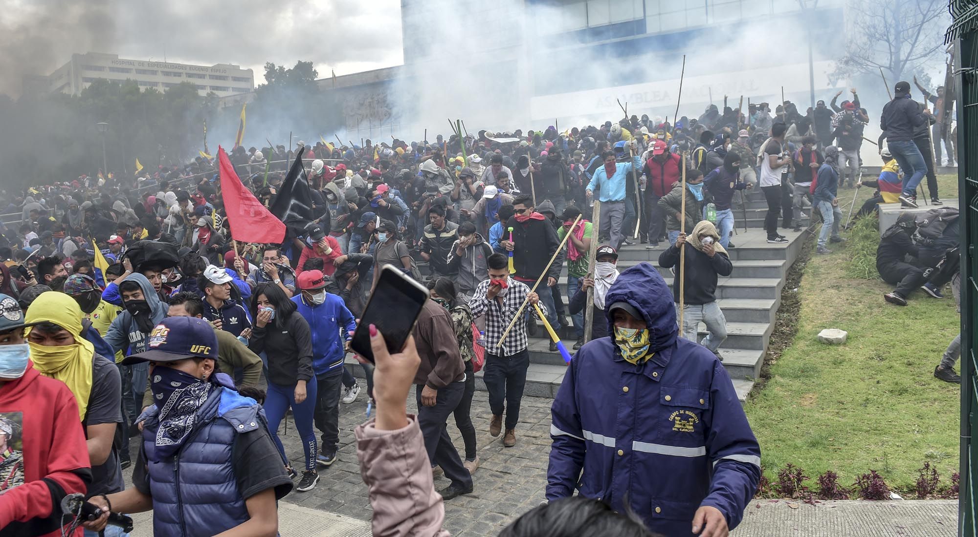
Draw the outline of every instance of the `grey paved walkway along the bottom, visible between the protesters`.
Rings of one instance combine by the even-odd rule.
[[[361,381],[362,382],[362,381]],[[489,435],[489,403],[486,392],[472,398],[479,470],[473,475],[475,490],[445,504],[445,528],[453,535],[495,536],[517,516],[540,504],[547,481],[550,453],[550,406],[548,397],[524,397],[515,447],[505,448],[502,435]],[[353,429],[365,419],[366,392],[353,404],[340,405],[338,458],[321,472],[319,484],[309,492],[291,492],[279,505],[284,537],[368,536],[372,511],[367,487],[360,478]],[[417,405],[409,400],[409,412]],[[460,453],[464,444],[453,420],[449,421]],[[293,465],[302,466],[301,448],[289,419],[288,431],[280,430]],[[126,474],[129,474],[126,472]],[[448,486],[443,476],[435,487]],[[792,507],[793,506],[793,507]],[[755,500],[733,537],[955,537],[957,502],[827,502],[817,506],[784,501]],[[133,537],[152,535],[152,515],[134,516]]]

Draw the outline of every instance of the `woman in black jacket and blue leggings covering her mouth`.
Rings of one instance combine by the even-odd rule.
[[[305,470],[295,489],[311,490],[319,481],[316,473],[316,434],[313,413],[316,409],[316,383],[312,369],[312,334],[309,323],[295,312],[295,303],[274,283],[262,283],[251,296],[254,326],[248,349],[268,356],[268,392],[265,416],[272,439],[285,452],[279,439],[279,424],[289,408],[295,429],[302,438]],[[295,472],[289,468],[289,475]]]

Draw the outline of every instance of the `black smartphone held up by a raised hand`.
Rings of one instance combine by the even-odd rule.
[[[374,294],[353,332],[350,349],[375,363],[370,346],[370,325],[373,324],[383,334],[387,351],[402,351],[427,299],[428,291],[421,283],[393,265],[384,265]]]

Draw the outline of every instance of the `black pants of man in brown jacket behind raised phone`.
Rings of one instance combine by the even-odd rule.
[[[418,397],[418,425],[422,429],[428,460],[431,464],[441,466],[445,476],[452,480],[452,484],[469,488],[472,486],[472,476],[468,474],[466,467],[462,466],[459,451],[452,444],[448,427],[445,425],[448,416],[455,412],[462,401],[462,396],[466,392],[465,383],[455,382],[439,389],[434,406],[422,406],[423,388],[420,385],[415,386],[415,393]]]

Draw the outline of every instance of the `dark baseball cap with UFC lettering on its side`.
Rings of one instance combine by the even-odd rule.
[[[150,333],[149,351],[126,356],[122,365],[185,358],[217,359],[214,327],[197,317],[166,317]]]

